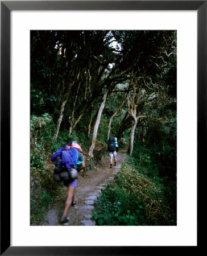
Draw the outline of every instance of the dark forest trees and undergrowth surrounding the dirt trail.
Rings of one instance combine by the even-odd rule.
[[[176,225],[176,31],[31,31],[31,224],[61,185],[50,156],[114,135],[129,155],[97,201],[97,225]]]

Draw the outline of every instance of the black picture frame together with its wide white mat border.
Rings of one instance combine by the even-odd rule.
[[[1,255],[198,251],[206,154],[206,1],[1,1]],[[177,225],[30,225],[30,31],[177,32]]]

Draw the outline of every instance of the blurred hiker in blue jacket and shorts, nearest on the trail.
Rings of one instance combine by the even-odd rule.
[[[68,210],[71,205],[76,206],[77,204],[77,200],[74,199],[78,179],[77,171],[85,168],[85,158],[77,142],[68,142],[52,155],[51,160],[56,164],[53,174],[54,179],[63,181],[65,187],[68,187],[65,209],[60,218],[61,222],[68,222]]]

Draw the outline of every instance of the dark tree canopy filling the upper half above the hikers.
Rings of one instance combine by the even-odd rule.
[[[31,114],[51,115],[55,138],[81,119],[90,134],[125,96],[114,135],[132,127],[132,152],[136,126],[175,118],[176,31],[31,31]]]

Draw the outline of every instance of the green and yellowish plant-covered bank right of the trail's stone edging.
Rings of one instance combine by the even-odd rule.
[[[175,225],[163,184],[142,170],[135,158],[127,156],[114,181],[96,202],[96,225]]]

